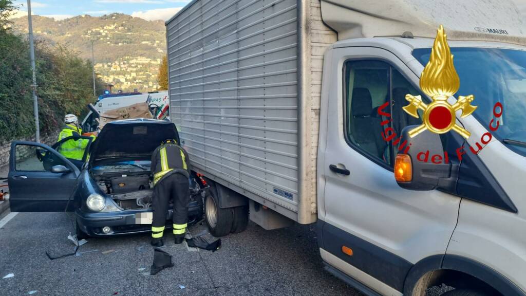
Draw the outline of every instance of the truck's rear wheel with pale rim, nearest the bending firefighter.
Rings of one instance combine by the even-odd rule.
[[[205,196],[205,219],[208,230],[214,236],[225,236],[232,229],[232,208],[221,209],[214,198],[215,188],[210,188]]]

